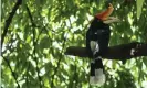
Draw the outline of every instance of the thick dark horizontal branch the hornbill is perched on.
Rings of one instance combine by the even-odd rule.
[[[74,55],[87,57],[86,47],[70,46],[66,48],[65,55]],[[108,51],[102,55],[107,59],[129,59],[138,56],[147,56],[147,44],[133,42],[108,47]]]

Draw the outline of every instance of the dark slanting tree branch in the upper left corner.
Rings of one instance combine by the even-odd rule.
[[[12,12],[10,13],[9,18],[6,20],[6,25],[4,25],[4,30],[3,30],[3,33],[1,35],[1,47],[2,47],[2,44],[4,42],[4,37],[7,35],[7,32],[8,32],[8,28],[10,25],[10,23],[12,22],[12,19],[13,19],[13,15],[15,13],[15,11],[18,10],[19,6],[22,3],[22,0],[18,0],[15,6],[13,7],[12,9]]]

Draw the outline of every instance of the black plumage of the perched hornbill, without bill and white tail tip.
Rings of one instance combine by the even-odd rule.
[[[109,25],[103,23],[102,20],[95,16],[90,25],[88,31],[86,32],[87,54],[90,57],[93,57],[91,62],[91,76],[96,76],[95,69],[103,69],[104,73],[102,55],[107,51],[109,35]],[[96,43],[94,48],[91,45],[93,42]]]

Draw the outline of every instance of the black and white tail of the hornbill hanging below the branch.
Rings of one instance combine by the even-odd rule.
[[[90,84],[101,86],[104,82],[105,82],[105,74],[104,74],[102,57],[97,57],[95,59],[92,59],[91,62]]]

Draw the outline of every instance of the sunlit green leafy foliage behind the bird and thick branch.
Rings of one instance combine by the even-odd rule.
[[[2,0],[2,29],[15,2]],[[92,16],[109,2],[112,15],[120,19],[111,24],[109,45],[147,42],[147,0],[22,0],[2,46],[2,87],[98,88],[88,84],[90,59],[64,52],[85,46]],[[99,88],[147,87],[147,57],[125,64],[104,59],[104,65],[107,80]]]

